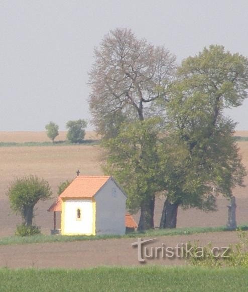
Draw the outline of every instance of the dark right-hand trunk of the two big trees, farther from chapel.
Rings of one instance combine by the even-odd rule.
[[[171,203],[167,198],[164,203],[162,216],[160,220],[160,228],[176,228],[177,227],[177,210],[179,202]]]

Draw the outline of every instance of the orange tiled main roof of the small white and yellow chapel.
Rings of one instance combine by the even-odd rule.
[[[92,198],[110,176],[78,176],[59,196],[60,198]]]

